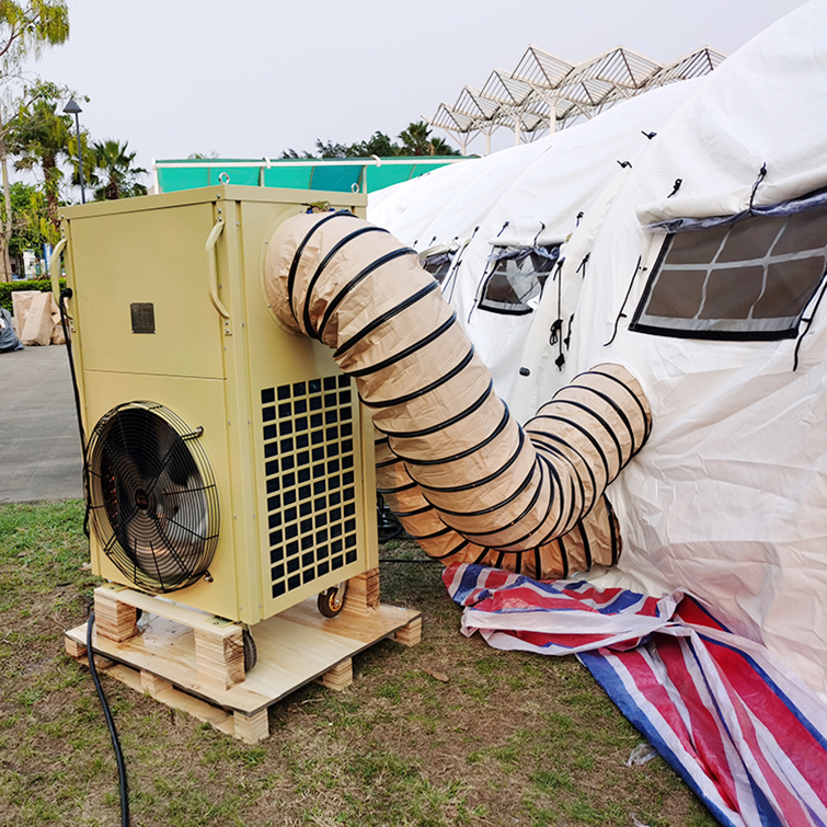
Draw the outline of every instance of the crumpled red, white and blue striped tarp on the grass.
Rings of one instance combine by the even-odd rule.
[[[471,564],[443,577],[464,634],[576,654],[722,825],[827,827],[827,707],[694,598]]]

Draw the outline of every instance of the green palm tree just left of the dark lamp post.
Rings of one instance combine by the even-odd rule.
[[[9,129],[9,149],[18,157],[15,170],[38,169],[43,174],[49,220],[58,228],[58,194],[64,177],[60,162],[71,160],[72,119],[58,114],[59,102],[67,90],[48,81],[37,81],[31,89],[31,101],[21,104]]]

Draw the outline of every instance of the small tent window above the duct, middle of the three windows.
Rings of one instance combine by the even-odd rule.
[[[560,245],[495,248],[489,259],[480,309],[522,315],[538,305],[545,279],[560,254]]]

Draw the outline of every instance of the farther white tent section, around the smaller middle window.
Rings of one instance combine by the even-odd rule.
[[[492,252],[563,244],[600,194],[613,192],[634,168],[651,141],[647,136],[697,83],[648,92],[533,143],[446,166],[371,196],[371,221],[425,256],[451,254],[444,294],[506,401],[532,320],[526,306],[503,312],[480,301],[482,282],[494,268]]]

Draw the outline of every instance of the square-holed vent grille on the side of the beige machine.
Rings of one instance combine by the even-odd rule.
[[[347,376],[262,398],[274,598],[357,559],[354,390]]]

